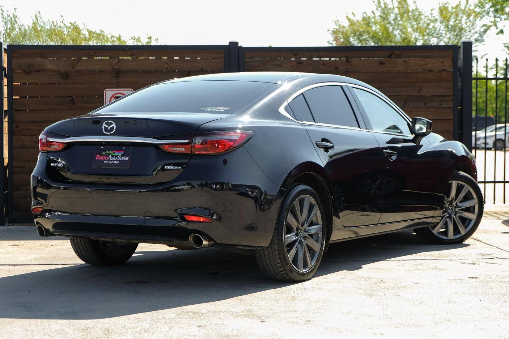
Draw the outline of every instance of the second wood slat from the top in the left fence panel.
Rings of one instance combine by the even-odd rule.
[[[222,59],[13,59],[15,71],[222,71]]]

